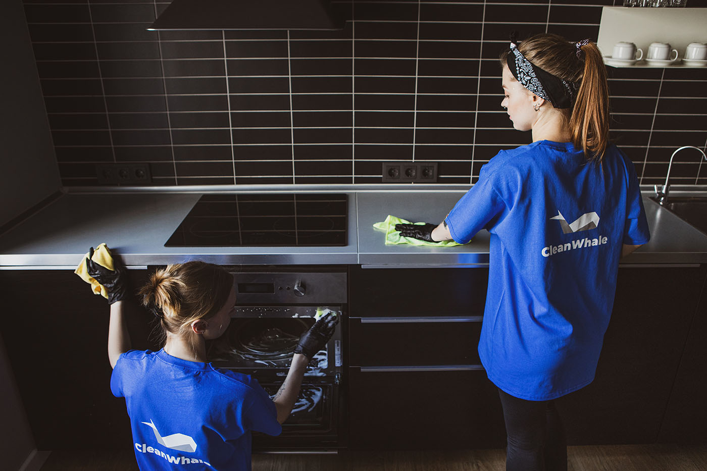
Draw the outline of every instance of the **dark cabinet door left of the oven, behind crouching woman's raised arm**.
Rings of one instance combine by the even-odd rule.
[[[144,271],[130,271],[139,286]],[[110,392],[109,307],[71,270],[0,271],[8,357],[37,448],[132,446],[125,401]],[[135,348],[148,348],[146,313],[131,307]]]

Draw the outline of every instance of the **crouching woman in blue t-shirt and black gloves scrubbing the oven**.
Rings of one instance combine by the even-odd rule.
[[[218,265],[187,262],[152,274],[139,294],[164,333],[160,351],[130,350],[124,268],[86,260],[110,303],[110,388],[125,397],[141,470],[250,470],[251,431],[278,435],[295,404],[312,356],[339,320],[323,316],[300,338],[276,395],[250,376],[206,363],[206,340],[223,334],[235,305],[233,275]]]

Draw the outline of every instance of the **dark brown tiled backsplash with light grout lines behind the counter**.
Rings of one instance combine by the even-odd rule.
[[[111,162],[149,163],[155,185],[375,183],[397,160],[474,182],[530,141],[500,106],[509,32],[596,40],[614,3],[334,1],[342,31],[158,33],[168,2],[24,2],[66,186]],[[612,136],[643,184],[707,145],[707,69],[607,69]],[[707,184],[679,160],[674,182]]]

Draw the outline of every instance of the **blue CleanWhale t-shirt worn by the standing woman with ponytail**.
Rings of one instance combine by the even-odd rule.
[[[571,143],[501,151],[446,221],[467,243],[491,233],[479,356],[489,379],[525,400],[550,400],[594,379],[612,313],[622,244],[648,242],[629,158],[601,165]]]

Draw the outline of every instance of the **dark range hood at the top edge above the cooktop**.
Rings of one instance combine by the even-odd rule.
[[[174,0],[149,30],[341,30],[329,0]]]

